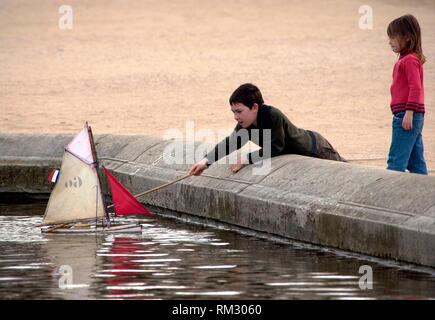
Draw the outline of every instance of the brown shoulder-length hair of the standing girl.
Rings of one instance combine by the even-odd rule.
[[[421,31],[417,19],[412,14],[406,14],[390,22],[387,28],[387,34],[390,38],[400,36],[408,37],[406,50],[414,52],[423,64],[426,57],[421,49]]]

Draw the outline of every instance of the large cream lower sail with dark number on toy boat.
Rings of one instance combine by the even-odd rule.
[[[95,166],[65,151],[59,180],[51,192],[43,223],[68,222],[104,215]]]

